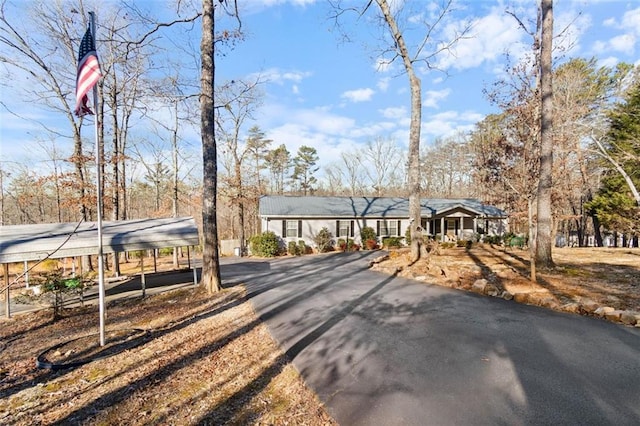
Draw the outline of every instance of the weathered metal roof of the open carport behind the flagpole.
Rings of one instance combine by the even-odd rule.
[[[198,244],[192,217],[102,222],[105,254]],[[0,226],[0,264],[97,253],[95,222]]]

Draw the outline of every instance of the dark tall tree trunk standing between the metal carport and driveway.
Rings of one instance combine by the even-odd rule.
[[[202,137],[202,284],[209,293],[220,291],[218,259],[218,225],[216,219],[217,152],[214,107],[214,0],[202,0],[202,93],[200,95],[200,126]]]

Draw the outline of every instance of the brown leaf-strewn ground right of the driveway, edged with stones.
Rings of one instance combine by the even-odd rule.
[[[535,283],[527,250],[489,245],[438,249],[413,265],[409,250],[401,249],[373,268],[555,310],[594,314],[597,307],[610,307],[640,313],[640,249],[555,248],[553,260],[556,267],[538,269]],[[476,284],[482,279],[486,286]]]

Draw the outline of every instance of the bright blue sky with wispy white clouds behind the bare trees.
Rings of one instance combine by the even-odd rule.
[[[137,3],[165,7],[161,0]],[[346,2],[361,3],[365,2]],[[405,35],[414,52],[417,37],[425,31],[421,23],[433,22],[430,14],[436,2],[391,3],[394,8],[403,8]],[[410,117],[407,75],[399,61],[381,64],[385,28],[371,13],[359,19],[345,14],[336,26],[325,0],[248,0],[242,7],[245,39],[217,58],[216,79],[218,83],[258,77],[263,81],[261,105],[245,131],[257,125],[274,141],[274,148],[285,144],[292,155],[302,145],[314,147],[321,166],[377,138],[392,140],[406,149]],[[531,0],[464,0],[458,1],[455,11],[433,31],[433,40],[444,41],[465,23],[471,28],[450,52],[431,58],[430,68],[423,63],[417,67],[422,81],[423,146],[468,132],[497,111],[483,90],[504,76],[505,53],[519,58],[531,47],[530,35],[507,10],[528,25],[536,14]],[[554,44],[564,48],[557,61],[595,57],[603,66],[640,64],[639,0],[555,0],[554,17],[554,32],[563,34]],[[349,41],[345,41],[347,37]],[[425,52],[434,49],[433,44],[425,46]],[[37,168],[47,159],[44,150],[31,143],[42,129],[20,115],[55,120],[52,112],[20,101],[20,84],[17,79],[12,85],[0,85],[3,168],[14,162]],[[197,129],[185,130],[182,136],[194,158],[200,155]],[[60,149],[71,147],[61,141]]]

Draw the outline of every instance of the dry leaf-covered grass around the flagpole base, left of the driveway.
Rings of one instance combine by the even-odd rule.
[[[95,307],[0,322],[1,424],[336,424],[241,287],[119,301],[107,314],[109,356],[57,371],[36,356],[59,343],[44,359],[99,355]]]

